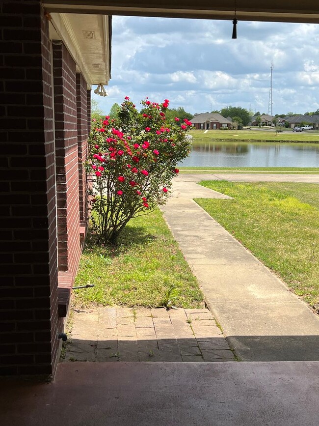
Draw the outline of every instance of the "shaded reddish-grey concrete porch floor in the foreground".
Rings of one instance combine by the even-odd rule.
[[[63,363],[0,383],[10,426],[317,426],[319,362]]]

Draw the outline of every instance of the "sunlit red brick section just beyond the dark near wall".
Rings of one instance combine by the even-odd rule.
[[[76,63],[58,40],[53,41],[53,81],[58,269],[73,278],[80,259]]]

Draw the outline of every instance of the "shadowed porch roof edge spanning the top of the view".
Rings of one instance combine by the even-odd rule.
[[[176,18],[234,18],[235,0],[44,0],[49,12]],[[241,21],[319,23],[319,2],[314,0],[238,0]]]

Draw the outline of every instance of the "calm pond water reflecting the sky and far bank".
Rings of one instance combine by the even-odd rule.
[[[193,142],[185,167],[319,167],[319,143]]]

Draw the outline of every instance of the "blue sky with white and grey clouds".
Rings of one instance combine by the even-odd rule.
[[[319,25],[239,21],[235,40],[231,21],[113,16],[112,27],[109,96],[92,92],[105,114],[125,96],[267,113],[272,61],[273,115],[319,108]]]

